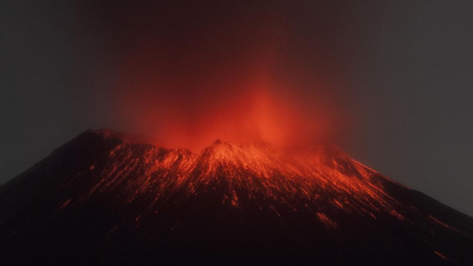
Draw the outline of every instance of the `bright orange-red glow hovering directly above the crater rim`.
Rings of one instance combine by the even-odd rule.
[[[168,102],[144,92],[134,91],[121,106],[133,121],[134,131],[161,147],[199,151],[215,139],[306,146],[330,137],[334,128],[331,119],[337,117],[320,102],[304,106],[291,94],[275,92],[266,79],[249,81],[234,91],[212,91],[213,96],[189,96],[197,102]]]

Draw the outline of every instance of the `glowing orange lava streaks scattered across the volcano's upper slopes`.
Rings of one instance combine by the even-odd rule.
[[[101,131],[99,132],[101,133]],[[103,134],[107,137],[107,134]],[[337,222],[327,208],[359,213],[376,219],[372,211],[406,221],[396,209],[401,204],[372,182],[372,169],[350,159],[335,146],[308,150],[284,150],[268,143],[230,143],[215,141],[198,153],[186,149],[166,150],[129,141],[116,146],[107,164],[92,169],[98,183],[84,195],[113,193],[120,188],[127,202],[146,197],[158,204],[172,193],[179,201],[206,194],[222,193],[219,204],[246,208],[256,201],[280,215],[277,200],[293,211],[310,211],[329,228]],[[137,175],[136,173],[139,172]],[[134,182],[128,182],[133,179]],[[124,190],[123,190],[124,189]],[[327,196],[332,198],[325,198]],[[320,198],[322,197],[322,198]],[[324,202],[323,206],[319,205]],[[179,204],[178,202],[175,202]],[[330,206],[326,206],[329,202]],[[155,213],[157,205],[147,212]],[[371,210],[371,211],[368,211]],[[137,218],[140,219],[140,214]]]

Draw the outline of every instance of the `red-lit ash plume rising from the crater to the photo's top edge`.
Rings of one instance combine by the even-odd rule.
[[[217,138],[296,146],[338,137],[343,9],[308,5],[87,7],[117,64],[113,120],[157,145],[193,150]]]

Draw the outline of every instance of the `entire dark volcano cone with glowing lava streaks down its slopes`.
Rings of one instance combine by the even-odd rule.
[[[1,265],[469,265],[473,218],[333,145],[81,133],[0,187]]]

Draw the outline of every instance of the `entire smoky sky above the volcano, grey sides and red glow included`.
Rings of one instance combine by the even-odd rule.
[[[473,215],[473,2],[53,2],[0,4],[0,183],[89,128],[331,141]]]

